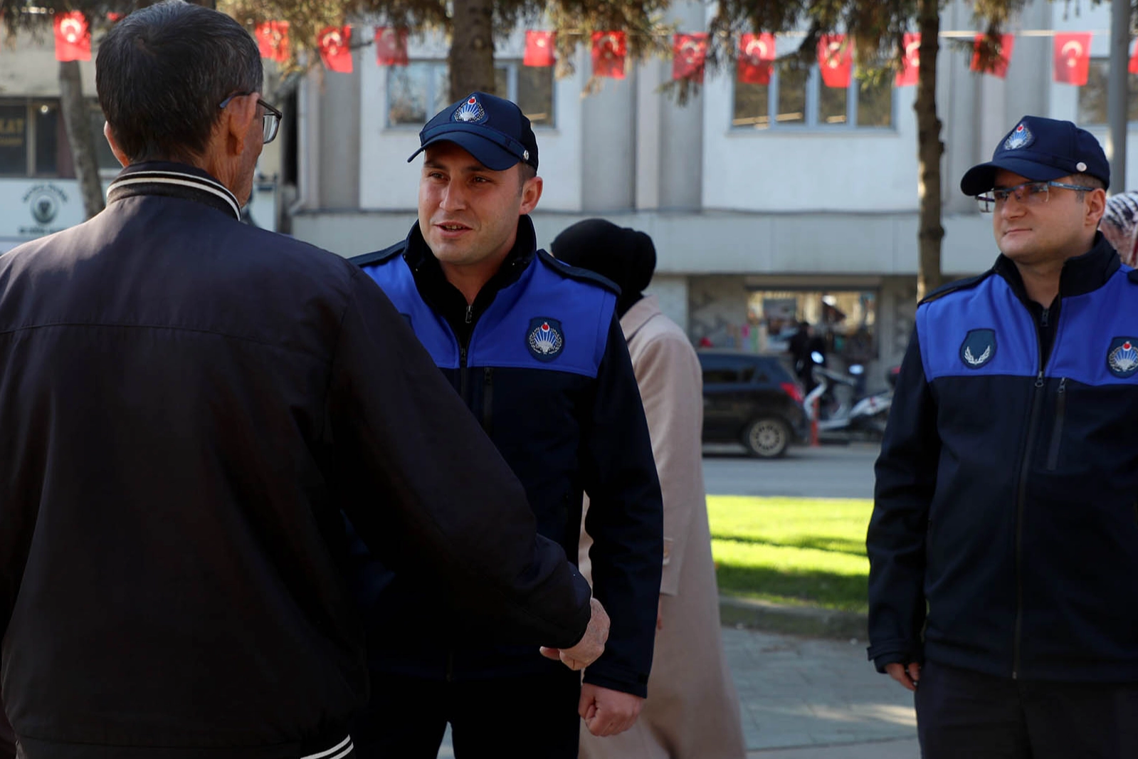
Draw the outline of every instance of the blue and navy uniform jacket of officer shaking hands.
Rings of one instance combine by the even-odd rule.
[[[528,216],[497,274],[469,305],[446,281],[418,224],[402,242],[353,262],[387,292],[521,480],[537,531],[571,558],[588,494],[593,589],[612,626],[585,682],[645,695],[662,501],[615,315],[616,286],[536,250]],[[439,609],[423,578],[396,576],[366,559],[356,580],[374,670],[447,679],[566,671],[534,646],[509,645],[493,634],[469,644],[469,627],[462,627],[469,620],[453,604]],[[405,626],[390,625],[393,614]]]

